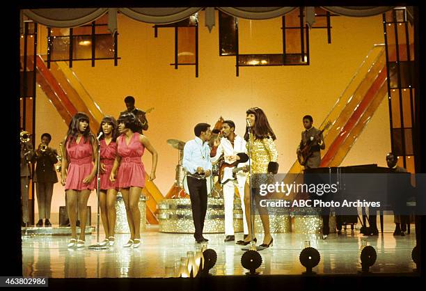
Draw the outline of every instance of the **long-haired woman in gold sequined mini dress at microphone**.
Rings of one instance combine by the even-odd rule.
[[[251,216],[250,195],[252,194],[255,197],[255,205],[258,205],[260,196],[256,193],[258,193],[259,185],[269,182],[269,177],[271,176],[269,173],[278,172],[278,152],[276,151],[274,143],[276,136],[269,125],[265,112],[258,107],[253,107],[248,109],[246,114],[246,119],[250,124],[250,127],[246,127],[244,139],[247,141],[247,150],[248,139],[250,139],[252,184],[250,185],[249,179],[246,180],[247,182],[244,189],[244,205],[246,207],[248,236],[244,240],[237,242],[237,244],[242,245],[249,244],[251,236],[253,235],[253,233],[251,233],[251,223],[254,222],[254,213],[253,216]],[[239,157],[237,157],[237,159],[239,159]],[[246,171],[248,171],[248,168],[246,168]],[[266,208],[260,209],[260,207],[258,207],[258,210],[260,210],[260,219],[262,220],[263,229],[265,230],[265,237],[263,238],[263,243],[260,246],[272,246],[273,239],[269,230],[269,214]],[[256,241],[256,239],[253,240]]]

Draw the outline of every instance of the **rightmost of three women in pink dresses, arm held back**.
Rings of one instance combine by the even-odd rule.
[[[154,180],[157,151],[151,146],[146,136],[139,134],[142,124],[133,113],[122,113],[117,123],[121,135],[117,138],[118,155],[111,170],[110,180],[115,181],[117,175],[118,187],[120,187],[126,207],[130,239],[124,247],[137,248],[141,244],[141,212],[138,205],[142,189],[145,187],[145,168],[142,163],[142,155],[145,148],[152,154],[152,169],[148,179]],[[120,166],[119,169],[118,166]]]

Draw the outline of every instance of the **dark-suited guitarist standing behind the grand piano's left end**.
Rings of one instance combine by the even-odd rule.
[[[313,126],[313,118],[310,115],[303,116],[303,127],[305,130],[301,132],[301,141],[297,147],[297,155],[300,155],[301,150],[306,143],[309,141],[312,143],[310,148],[310,155],[306,158],[305,168],[318,168],[321,164],[321,152],[320,150],[325,149],[324,137],[322,136],[321,130]],[[329,209],[322,209],[322,238],[326,237],[330,233],[329,228]]]

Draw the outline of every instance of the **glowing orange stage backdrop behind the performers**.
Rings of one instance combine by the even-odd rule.
[[[217,12],[216,12],[217,13]],[[146,136],[159,152],[155,183],[165,195],[175,179],[178,151],[167,139],[187,141],[194,137],[194,125],[214,125],[219,116],[232,119],[237,134],[243,134],[245,111],[261,107],[277,136],[280,172],[287,171],[296,159],[296,148],[303,129],[301,118],[310,114],[319,125],[344,91],[372,45],[384,43],[381,15],[374,17],[332,17],[332,43],[325,29],[310,31],[310,65],[240,68],[235,76],[235,57],[219,56],[219,29],[209,33],[200,13],[199,77],[193,66],[175,70],[174,30],[159,29],[154,38],[152,24],[136,22],[118,15],[118,66],[113,61],[73,62],[73,70],[93,100],[105,114],[118,116],[125,109],[126,95],[136,98],[136,107],[155,110],[148,114]],[[281,18],[262,21],[239,20],[240,53],[280,53]],[[46,54],[47,29],[39,28],[39,54]],[[384,99],[386,100],[386,98]],[[40,88],[36,104],[37,142],[42,132],[52,134],[58,148],[68,125]],[[386,166],[390,150],[388,103],[383,101],[342,165],[377,163]],[[150,172],[151,155],[145,152],[145,168]],[[58,207],[65,205],[61,184],[55,184],[52,220]],[[96,196],[89,205],[96,211]],[[37,205],[36,205],[37,211]],[[36,217],[38,219],[38,217]]]

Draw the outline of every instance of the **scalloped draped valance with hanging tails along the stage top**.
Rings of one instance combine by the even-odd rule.
[[[216,7],[223,13],[244,19],[270,19],[281,17],[298,7]],[[338,15],[368,17],[379,15],[393,6],[321,6]],[[49,27],[75,27],[93,22],[105,13],[109,13],[108,28],[111,33],[117,31],[117,13],[123,13],[140,22],[152,24],[170,24],[194,15],[202,7],[178,8],[52,8],[24,9],[22,13],[35,22]],[[310,27],[315,22],[313,7],[305,8],[305,20]],[[209,31],[214,26],[214,8],[205,8],[205,26]]]

